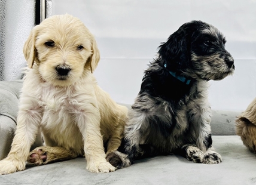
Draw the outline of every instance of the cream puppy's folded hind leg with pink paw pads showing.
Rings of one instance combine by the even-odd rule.
[[[77,158],[77,154],[63,147],[40,146],[29,153],[29,164],[44,165],[50,162]]]

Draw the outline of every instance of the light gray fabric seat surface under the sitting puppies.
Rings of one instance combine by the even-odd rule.
[[[256,156],[236,135],[213,136],[214,147],[223,157],[215,165],[194,164],[181,156],[157,156],[136,161],[109,174],[86,170],[83,158],[32,166],[25,171],[2,175],[11,184],[256,184]]]

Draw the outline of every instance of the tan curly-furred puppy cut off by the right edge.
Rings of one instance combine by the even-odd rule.
[[[256,153],[256,98],[236,120],[236,134],[251,152]]]

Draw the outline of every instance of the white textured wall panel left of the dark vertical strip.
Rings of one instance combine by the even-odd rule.
[[[26,13],[25,13],[26,11]],[[0,1],[0,80],[22,78],[23,45],[34,26],[35,1]]]

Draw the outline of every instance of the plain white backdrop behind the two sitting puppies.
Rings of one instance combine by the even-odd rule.
[[[181,24],[206,21],[224,33],[236,70],[211,81],[213,109],[246,109],[256,97],[256,0],[53,0],[53,15],[80,18],[95,35],[101,60],[95,71],[100,87],[115,101],[132,104],[143,72]]]

